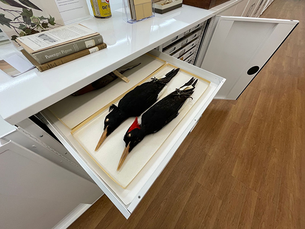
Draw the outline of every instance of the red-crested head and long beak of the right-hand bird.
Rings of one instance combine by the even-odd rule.
[[[125,149],[119,160],[117,171],[123,165],[129,152],[131,152],[132,149],[136,145],[138,145],[141,140],[143,140],[143,138],[144,138],[144,134],[143,131],[141,131],[141,125],[138,123],[138,118],[136,118],[133,124],[129,127],[126,134],[124,135]]]

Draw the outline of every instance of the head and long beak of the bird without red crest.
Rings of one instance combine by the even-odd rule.
[[[110,113],[105,118],[104,121],[104,132],[97,144],[95,151],[97,151],[102,145],[106,137],[109,136],[124,120],[125,116],[122,115],[121,110],[114,104],[109,107]]]

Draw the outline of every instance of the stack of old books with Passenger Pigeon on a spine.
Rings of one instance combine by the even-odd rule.
[[[17,42],[23,55],[41,72],[107,47],[102,35],[80,24],[20,37]]]

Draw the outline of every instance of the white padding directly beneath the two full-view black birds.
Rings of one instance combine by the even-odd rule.
[[[172,67],[159,71],[157,75],[166,74],[172,70]],[[167,91],[160,98],[164,98],[176,88],[180,88],[192,78],[191,75],[179,71],[178,74],[170,81]],[[147,135],[127,156],[123,166],[119,171],[116,171],[121,154],[125,148],[123,137],[133,123],[135,118],[129,118],[122,123],[115,131],[113,131],[103,142],[100,149],[95,152],[97,142],[103,133],[104,120],[108,115],[108,110],[101,113],[92,121],[81,127],[74,133],[74,137],[80,145],[92,156],[105,173],[121,187],[126,188],[130,182],[137,176],[139,171],[145,166],[155,152],[162,146],[166,138],[171,134],[179,122],[184,118],[186,113],[201,97],[208,88],[209,83],[203,80],[198,80],[195,92],[192,95],[193,100],[190,100],[179,115],[168,125],[154,134]]]

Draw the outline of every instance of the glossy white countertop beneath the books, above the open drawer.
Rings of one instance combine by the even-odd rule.
[[[107,49],[45,72],[33,69],[10,77],[0,70],[0,115],[17,124],[238,1],[210,10],[183,5],[134,24],[123,21],[121,9],[112,10],[109,19],[82,21],[103,36]],[[1,46],[0,59],[13,51],[11,44]]]

